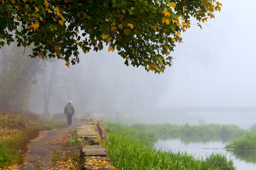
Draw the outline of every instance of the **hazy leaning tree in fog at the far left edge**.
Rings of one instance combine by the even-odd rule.
[[[0,110],[25,111],[28,109],[30,88],[38,73],[39,57],[31,59],[20,49],[9,46],[2,51],[2,75],[0,76]]]

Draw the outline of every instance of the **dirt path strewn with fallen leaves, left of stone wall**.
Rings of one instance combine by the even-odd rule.
[[[22,165],[18,165],[18,170],[53,169],[53,155],[62,160],[74,157],[74,154],[79,153],[79,148],[70,145],[70,133],[82,124],[86,123],[73,121],[71,127],[40,132],[38,137],[28,145],[25,161]]]

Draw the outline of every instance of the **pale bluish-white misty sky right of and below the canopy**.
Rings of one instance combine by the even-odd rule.
[[[256,106],[256,1],[220,2],[221,12],[216,12],[215,19],[208,20],[207,25],[202,24],[202,30],[195,22],[182,33],[183,43],[176,44],[171,54],[175,58],[173,66],[161,75],[127,67],[117,52],[107,52],[107,48],[80,56],[81,63],[109,57],[111,68],[146,77],[148,81],[141,82],[141,86],[147,86],[152,76],[167,79],[167,86],[159,83],[157,87],[166,91],[155,101],[159,107]]]

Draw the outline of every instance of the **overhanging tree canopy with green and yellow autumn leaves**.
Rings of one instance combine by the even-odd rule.
[[[33,46],[31,57],[57,57],[69,66],[84,53],[119,51],[125,64],[163,72],[190,18],[207,22],[216,0],[0,0],[0,46]],[[201,27],[202,29],[202,27]],[[13,34],[15,37],[13,37]]]

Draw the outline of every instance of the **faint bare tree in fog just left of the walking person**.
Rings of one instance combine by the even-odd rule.
[[[60,61],[45,61],[43,74],[37,76],[37,83],[32,88],[31,108],[37,111],[43,108],[44,114],[63,111],[63,104],[68,99],[79,96],[76,74]]]

